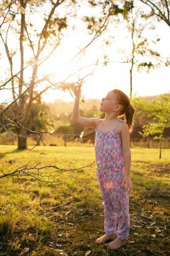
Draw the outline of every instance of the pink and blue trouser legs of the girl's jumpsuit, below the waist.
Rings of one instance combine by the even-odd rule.
[[[125,192],[124,186],[120,186],[124,175],[124,170],[96,172],[104,201],[105,232],[109,236],[116,234],[121,240],[128,239],[130,230],[129,191]]]

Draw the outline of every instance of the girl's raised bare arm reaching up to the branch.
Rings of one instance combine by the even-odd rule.
[[[87,117],[80,116],[80,113],[79,113],[79,103],[80,103],[80,95],[81,95],[80,89],[81,89],[80,85],[74,86],[73,88],[73,92],[76,96],[76,99],[75,99],[74,107],[72,109],[72,115],[71,115],[72,121],[74,121],[74,123],[80,126],[92,127],[95,129],[98,122],[98,118],[95,118],[95,117],[87,118]]]

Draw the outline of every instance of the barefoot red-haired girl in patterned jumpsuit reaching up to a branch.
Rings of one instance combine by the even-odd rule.
[[[80,126],[95,129],[96,177],[104,201],[105,234],[96,243],[112,240],[107,248],[114,250],[126,243],[130,230],[129,193],[132,182],[129,134],[133,129],[134,108],[124,92],[114,89],[102,99],[100,111],[105,112],[103,119],[80,117],[80,90],[80,85],[74,86],[76,99],[72,120]],[[126,121],[118,118],[122,115]]]

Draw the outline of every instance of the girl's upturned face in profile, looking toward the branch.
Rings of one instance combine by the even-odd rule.
[[[102,98],[100,105],[100,111],[102,112],[113,112],[120,109],[120,104],[117,102],[117,95],[110,91],[107,93],[105,98]]]

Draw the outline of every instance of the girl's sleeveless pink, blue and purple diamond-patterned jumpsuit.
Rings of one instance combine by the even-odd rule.
[[[95,136],[96,177],[104,201],[104,228],[109,236],[127,240],[130,230],[129,191],[120,186],[125,174],[122,140],[117,127],[109,132],[99,130],[98,119]],[[121,119],[117,120],[124,122]],[[116,229],[117,224],[117,229]]]

